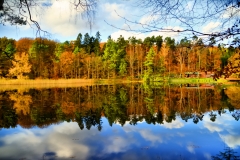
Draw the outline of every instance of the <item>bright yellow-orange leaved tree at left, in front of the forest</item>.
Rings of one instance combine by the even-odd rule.
[[[17,79],[27,79],[28,76],[24,76],[24,73],[30,73],[32,65],[29,63],[28,54],[16,53],[14,60],[12,61],[12,68],[9,69],[9,76],[16,76]]]

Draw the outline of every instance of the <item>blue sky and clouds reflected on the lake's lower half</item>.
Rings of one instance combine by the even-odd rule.
[[[173,123],[136,126],[108,125],[103,129],[80,130],[76,122],[48,128],[2,129],[0,159],[211,159],[224,147],[233,147],[240,155],[239,122],[231,114],[218,116],[215,122],[205,114],[194,124],[177,118]]]

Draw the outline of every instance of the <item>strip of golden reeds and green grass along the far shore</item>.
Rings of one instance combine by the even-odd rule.
[[[163,82],[163,81],[161,81]],[[143,83],[139,79],[0,79],[0,90],[31,88],[67,88],[90,85],[108,85],[119,83]],[[212,78],[174,78],[165,79],[165,83],[228,83],[226,79],[214,81]]]

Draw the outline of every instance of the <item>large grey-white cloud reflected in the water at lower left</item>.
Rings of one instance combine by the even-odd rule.
[[[7,144],[1,147],[0,155],[7,157],[11,153],[13,156],[26,156],[27,159],[40,159],[44,153],[54,152],[58,158],[77,156],[86,159],[90,149],[84,145],[84,140],[90,136],[89,132],[81,132],[79,136],[77,123],[66,122],[46,129],[40,135],[39,130],[22,130],[21,133],[0,138],[0,141]]]

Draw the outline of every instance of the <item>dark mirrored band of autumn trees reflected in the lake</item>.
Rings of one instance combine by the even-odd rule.
[[[137,125],[143,120],[148,124],[172,123],[178,115],[186,122],[191,119],[197,124],[202,121],[203,113],[209,114],[210,120],[215,121],[217,116],[227,112],[229,106],[229,110],[234,111],[233,118],[239,120],[239,110],[235,110],[229,101],[224,91],[220,90],[186,89],[182,86],[142,87],[139,84],[31,89],[28,93],[0,92],[0,107],[7,105],[13,109],[13,112],[4,115],[16,111],[18,123],[26,128],[76,121],[80,129],[95,126],[101,130],[102,116],[111,126],[114,123],[123,126],[126,122]],[[3,119],[10,123],[3,117],[5,112],[0,113],[1,124],[5,123]]]

